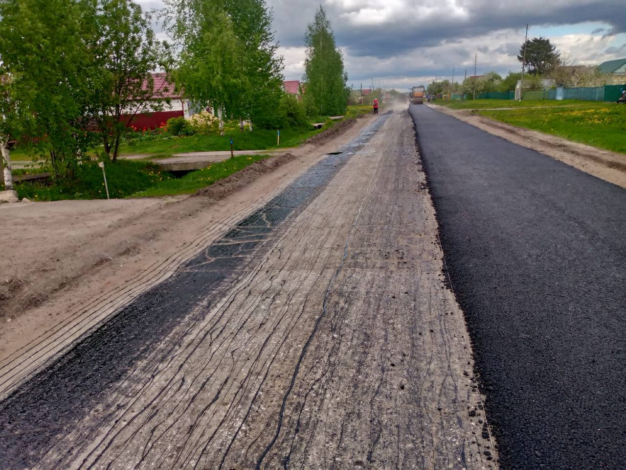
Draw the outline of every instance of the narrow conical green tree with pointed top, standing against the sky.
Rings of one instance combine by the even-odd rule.
[[[344,60],[337,49],[331,21],[320,5],[304,36],[307,46],[304,61],[306,83],[304,105],[309,115],[336,115],[346,112],[349,88]]]

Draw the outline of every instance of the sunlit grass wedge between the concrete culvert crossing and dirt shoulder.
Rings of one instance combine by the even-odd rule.
[[[235,155],[232,159],[213,163],[207,168],[184,175],[181,178],[163,179],[152,187],[132,194],[131,197],[172,196],[192,194],[198,189],[232,175],[248,165],[268,158],[269,155]]]

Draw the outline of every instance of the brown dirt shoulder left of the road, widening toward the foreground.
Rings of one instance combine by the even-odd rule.
[[[203,195],[1,204],[11,224],[0,227],[0,378],[14,370],[19,380],[170,276],[373,118],[250,165]],[[28,370],[16,365],[31,356]]]

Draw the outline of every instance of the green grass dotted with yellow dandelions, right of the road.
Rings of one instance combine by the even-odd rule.
[[[479,113],[508,124],[626,154],[626,105],[582,103],[587,103],[587,105],[572,108],[480,111]]]

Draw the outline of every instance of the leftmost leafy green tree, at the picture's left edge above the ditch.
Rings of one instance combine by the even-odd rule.
[[[0,76],[16,103],[4,132],[49,159],[54,177],[70,178],[93,135],[91,112],[95,5],[88,0],[4,0],[0,3]],[[7,91],[7,90],[5,90]]]

